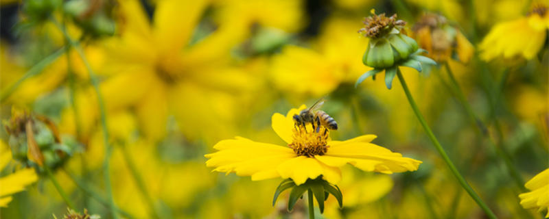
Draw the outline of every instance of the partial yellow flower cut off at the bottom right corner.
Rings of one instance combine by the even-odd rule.
[[[534,178],[524,184],[532,192],[519,194],[520,204],[525,209],[539,207],[539,211],[549,207],[549,168],[541,171]],[[549,218],[549,211],[545,216]]]

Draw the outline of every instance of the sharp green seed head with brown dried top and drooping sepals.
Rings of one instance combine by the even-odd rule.
[[[419,55],[423,49],[419,49],[417,42],[403,33],[406,22],[397,20],[397,14],[388,17],[375,14],[375,10],[371,10],[371,14],[364,18],[364,27],[358,32],[370,39],[362,63],[374,69],[360,76],[355,86],[370,76],[375,79],[377,73],[385,71],[385,84],[390,89],[398,66],[408,66],[421,72],[422,62],[436,64],[430,58]]]

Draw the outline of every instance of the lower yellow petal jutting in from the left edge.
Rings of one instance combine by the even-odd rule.
[[[6,177],[0,178],[0,196],[7,196],[25,190],[25,186],[34,183],[38,177],[32,168],[17,170]]]

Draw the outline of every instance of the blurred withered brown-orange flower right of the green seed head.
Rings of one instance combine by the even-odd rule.
[[[460,62],[467,63],[473,56],[471,42],[444,16],[425,14],[412,30],[419,47],[428,51],[425,56],[436,62],[447,62],[456,57]]]

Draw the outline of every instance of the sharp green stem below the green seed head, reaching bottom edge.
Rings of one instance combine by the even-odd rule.
[[[419,123],[421,123],[421,126],[423,129],[425,129],[425,132],[429,136],[429,139],[434,144],[434,147],[436,148],[436,151],[439,151],[441,154],[441,157],[443,158],[444,162],[446,162],[448,168],[452,171],[456,179],[458,179],[458,182],[460,185],[469,193],[469,196],[476,201],[478,206],[484,211],[484,213],[487,214],[489,218],[496,218],[495,214],[489,209],[489,207],[482,201],[482,199],[476,194],[476,192],[471,188],[471,185],[465,181],[463,176],[459,173],[456,166],[454,166],[454,163],[452,160],[449,159],[448,155],[446,154],[446,151],[444,151],[443,147],[441,146],[441,143],[439,143],[439,140],[436,139],[434,136],[434,133],[431,131],[431,128],[425,121],[425,118],[423,118],[423,115],[419,111],[419,108],[417,107],[414,98],[412,97],[412,94],[410,93],[410,90],[408,90],[408,86],[406,85],[406,81],[404,81],[404,77],[402,77],[402,73],[397,68],[397,76],[399,77],[400,83],[402,84],[402,88],[404,89],[404,92],[406,93],[406,97],[408,98],[408,102],[410,103],[410,106],[412,107],[412,110],[414,110],[414,114],[416,114],[417,119],[419,120]]]

